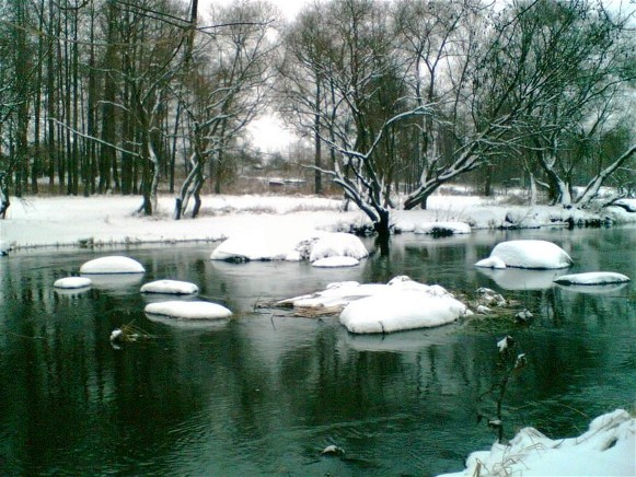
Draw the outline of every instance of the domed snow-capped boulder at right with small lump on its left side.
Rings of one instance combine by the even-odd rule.
[[[519,240],[497,244],[490,252],[490,256],[477,261],[475,266],[501,268],[502,264],[514,268],[555,269],[569,267],[573,259],[563,248],[552,242]]]

